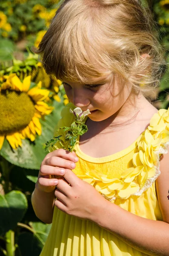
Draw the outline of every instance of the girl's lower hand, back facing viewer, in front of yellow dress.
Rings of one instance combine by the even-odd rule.
[[[99,205],[106,199],[86,181],[78,178],[74,172],[66,169],[65,180],[59,179],[54,192],[57,200],[55,206],[69,215],[94,221],[97,219]],[[70,184],[70,185],[69,185]]]

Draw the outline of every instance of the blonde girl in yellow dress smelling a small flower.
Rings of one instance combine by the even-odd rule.
[[[58,128],[70,108],[91,112],[76,153],[41,164],[32,204],[52,229],[40,256],[169,255],[169,110],[143,96],[163,72],[154,31],[137,0],[65,0],[34,50],[71,102]]]

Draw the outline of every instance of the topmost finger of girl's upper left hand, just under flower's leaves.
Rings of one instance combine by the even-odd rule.
[[[57,149],[52,151],[51,153],[47,154],[46,159],[49,157],[61,157],[67,160],[70,160],[72,162],[77,162],[78,159],[76,159],[76,154],[75,153],[70,152],[68,150],[64,150],[63,148]]]

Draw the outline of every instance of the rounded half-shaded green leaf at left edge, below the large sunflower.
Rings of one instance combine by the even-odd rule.
[[[0,195],[0,236],[14,229],[28,207],[26,196],[20,191]]]

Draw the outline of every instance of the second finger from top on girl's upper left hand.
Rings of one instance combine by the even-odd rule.
[[[74,169],[76,167],[76,164],[74,162],[63,159],[61,157],[49,157],[46,159],[44,164],[67,169]]]

